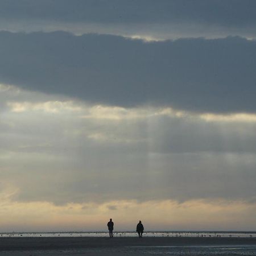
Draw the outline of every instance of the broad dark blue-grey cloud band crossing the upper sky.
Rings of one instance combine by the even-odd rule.
[[[256,42],[0,32],[0,82],[92,104],[255,112]]]

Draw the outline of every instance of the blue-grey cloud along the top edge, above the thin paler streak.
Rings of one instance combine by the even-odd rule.
[[[15,5],[14,5],[15,3]],[[82,22],[138,23],[172,21],[232,24],[255,22],[255,2],[246,1],[93,1],[74,0],[72,10],[68,0],[1,1],[1,16],[6,19],[50,19]],[[15,7],[14,7],[15,6]],[[154,12],[152,12],[154,10]],[[236,15],[234,15],[236,13]]]

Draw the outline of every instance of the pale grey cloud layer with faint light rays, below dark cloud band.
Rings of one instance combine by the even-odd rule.
[[[0,96],[0,179],[13,201],[255,199],[254,115],[205,118],[17,90]]]

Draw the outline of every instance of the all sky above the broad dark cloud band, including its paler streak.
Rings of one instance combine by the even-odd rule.
[[[0,1],[2,30],[97,32],[146,40],[240,35],[255,38],[255,2]]]

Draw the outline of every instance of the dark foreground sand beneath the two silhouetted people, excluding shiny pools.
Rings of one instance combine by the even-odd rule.
[[[160,251],[150,248],[168,247],[169,253],[175,248],[193,248],[195,246],[255,246],[256,238],[239,237],[36,237],[36,238],[0,238],[0,255],[6,256],[51,256],[51,255],[163,255]],[[152,249],[153,250],[153,249]],[[183,252],[184,254],[184,252]],[[189,255],[184,254],[184,255]],[[212,254],[213,255],[213,254]],[[219,255],[219,254],[216,254]],[[233,255],[233,254],[229,254]]]

